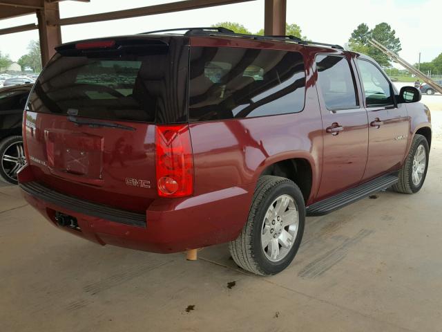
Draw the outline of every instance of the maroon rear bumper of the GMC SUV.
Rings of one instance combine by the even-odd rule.
[[[66,195],[61,193],[59,201],[57,192],[46,196],[32,193],[29,187],[37,183],[23,182],[25,174],[22,177],[24,179],[20,176],[19,179],[26,201],[57,228],[102,245],[164,253],[236,239],[247,221],[254,190],[254,185],[247,185],[184,199],[158,199],[146,211],[145,227],[140,227],[115,217],[106,218],[105,214],[79,210],[75,204],[69,206]],[[75,216],[81,231],[59,226],[55,212]]]

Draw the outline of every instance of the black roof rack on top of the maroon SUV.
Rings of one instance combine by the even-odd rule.
[[[317,46],[327,46],[331,48],[336,48],[338,50],[344,50],[343,46],[337,44],[325,44],[319,42],[310,42],[308,40],[302,40],[299,37],[293,35],[248,35],[244,33],[235,33],[233,30],[223,28],[222,26],[218,27],[208,27],[208,28],[175,28],[175,29],[166,29],[166,30],[155,30],[148,31],[147,33],[142,33],[141,35],[151,35],[154,33],[168,33],[171,31],[180,31],[186,30],[184,35],[232,35],[236,37],[244,37],[249,39],[258,39],[258,40],[280,40],[286,42],[295,42],[301,45],[317,45]]]

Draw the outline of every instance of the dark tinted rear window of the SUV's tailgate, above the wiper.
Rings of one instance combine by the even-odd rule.
[[[63,52],[61,52],[64,54]],[[30,111],[139,122],[186,122],[187,52],[164,44],[131,52],[57,54],[30,98]]]

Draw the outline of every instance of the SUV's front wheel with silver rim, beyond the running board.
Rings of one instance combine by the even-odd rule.
[[[425,136],[416,133],[414,135],[410,152],[405,163],[399,171],[399,181],[392,188],[396,192],[403,194],[414,194],[419,192],[425,181],[428,169],[428,156],[430,148]],[[420,156],[425,156],[425,165],[419,163]],[[417,177],[416,177],[417,176]]]

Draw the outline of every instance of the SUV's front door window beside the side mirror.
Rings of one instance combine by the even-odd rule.
[[[383,73],[371,62],[358,59],[367,107],[394,104],[392,88]]]

